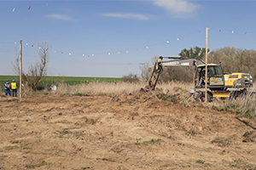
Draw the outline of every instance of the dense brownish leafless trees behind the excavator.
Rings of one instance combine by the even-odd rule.
[[[205,60],[205,57],[203,58]],[[241,48],[219,48],[212,50],[208,54],[208,63],[218,64],[221,62],[224,72],[234,73],[243,72],[250,73],[256,78],[256,51],[253,49]],[[167,81],[181,81],[192,82],[194,75],[194,67],[175,66],[168,67],[160,76],[160,80]]]

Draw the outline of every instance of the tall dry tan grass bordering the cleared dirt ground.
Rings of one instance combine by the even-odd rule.
[[[67,85],[59,83],[57,89],[51,94],[55,95],[110,95],[137,94],[147,82],[90,82],[89,84]],[[195,105],[195,99],[188,98],[189,89],[193,89],[189,82],[160,82],[157,84],[157,93],[165,94],[166,98],[175,95],[178,103],[184,106]],[[28,90],[26,94],[30,94]],[[178,96],[178,97],[177,97]],[[248,94],[237,99],[214,100],[205,105],[208,108],[218,108],[220,111],[236,111],[248,118],[256,117],[255,96]]]

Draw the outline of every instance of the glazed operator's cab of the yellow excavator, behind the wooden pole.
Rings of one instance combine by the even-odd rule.
[[[224,89],[224,73],[221,65],[207,65],[207,80],[206,80],[206,65],[197,65],[195,67],[194,82],[195,88],[207,88],[211,90]]]

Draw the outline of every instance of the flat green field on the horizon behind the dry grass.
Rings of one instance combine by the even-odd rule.
[[[6,81],[20,82],[20,77],[18,76],[0,76],[0,90],[3,92],[3,84]],[[75,85],[79,83],[90,83],[93,81],[102,81],[102,82],[120,82],[123,78],[113,78],[113,77],[43,77],[42,81],[38,85],[38,89],[49,87],[52,84],[57,82],[67,83],[68,85]]]

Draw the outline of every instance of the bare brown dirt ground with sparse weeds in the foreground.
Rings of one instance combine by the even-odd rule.
[[[147,94],[0,96],[0,169],[256,169],[256,122]]]

